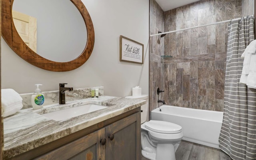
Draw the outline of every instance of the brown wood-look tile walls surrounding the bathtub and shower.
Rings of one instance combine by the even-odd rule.
[[[150,34],[161,27],[167,32],[251,15],[251,6],[254,0],[201,0],[163,12],[150,0]],[[223,111],[226,40],[227,23],[151,37],[150,110],[162,105],[160,99],[173,106]],[[165,90],[159,96],[158,87]]]

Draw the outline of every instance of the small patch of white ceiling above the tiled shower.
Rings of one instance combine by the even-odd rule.
[[[167,11],[199,0],[156,0],[162,10]]]

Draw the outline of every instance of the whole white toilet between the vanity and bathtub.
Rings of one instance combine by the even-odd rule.
[[[176,160],[175,151],[183,138],[182,127],[165,121],[150,120],[148,116],[148,95],[127,96],[126,98],[147,100],[141,106],[141,147],[142,156],[149,160]]]

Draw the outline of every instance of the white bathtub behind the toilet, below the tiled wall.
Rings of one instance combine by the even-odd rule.
[[[161,112],[160,112],[161,109]],[[219,148],[218,138],[223,112],[162,105],[151,112],[152,120],[162,120],[182,127],[182,140]]]

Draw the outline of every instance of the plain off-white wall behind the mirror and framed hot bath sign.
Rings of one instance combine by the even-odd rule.
[[[149,77],[149,1],[148,0],[82,0],[95,31],[95,44],[87,62],[76,70],[50,72],[32,66],[17,56],[1,40],[2,88],[18,93],[34,92],[41,83],[42,91],[58,90],[60,82],[84,88],[104,86],[105,95],[124,97],[140,85],[148,94]],[[120,35],[144,44],[144,64],[119,61]]]

